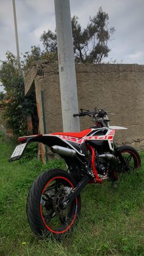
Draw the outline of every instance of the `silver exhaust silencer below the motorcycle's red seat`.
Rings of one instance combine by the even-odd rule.
[[[76,152],[73,149],[70,148],[65,148],[65,147],[60,147],[60,146],[52,146],[51,151],[54,153],[57,153],[61,156],[70,156],[73,157],[76,155]]]

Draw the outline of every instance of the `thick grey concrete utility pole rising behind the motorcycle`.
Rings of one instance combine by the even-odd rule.
[[[54,0],[63,131],[80,131],[70,0]]]

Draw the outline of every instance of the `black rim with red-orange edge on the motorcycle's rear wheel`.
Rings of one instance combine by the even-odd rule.
[[[66,232],[76,219],[77,198],[67,205],[62,203],[72,188],[71,185],[67,178],[55,177],[47,183],[41,194],[41,218],[52,233]]]

